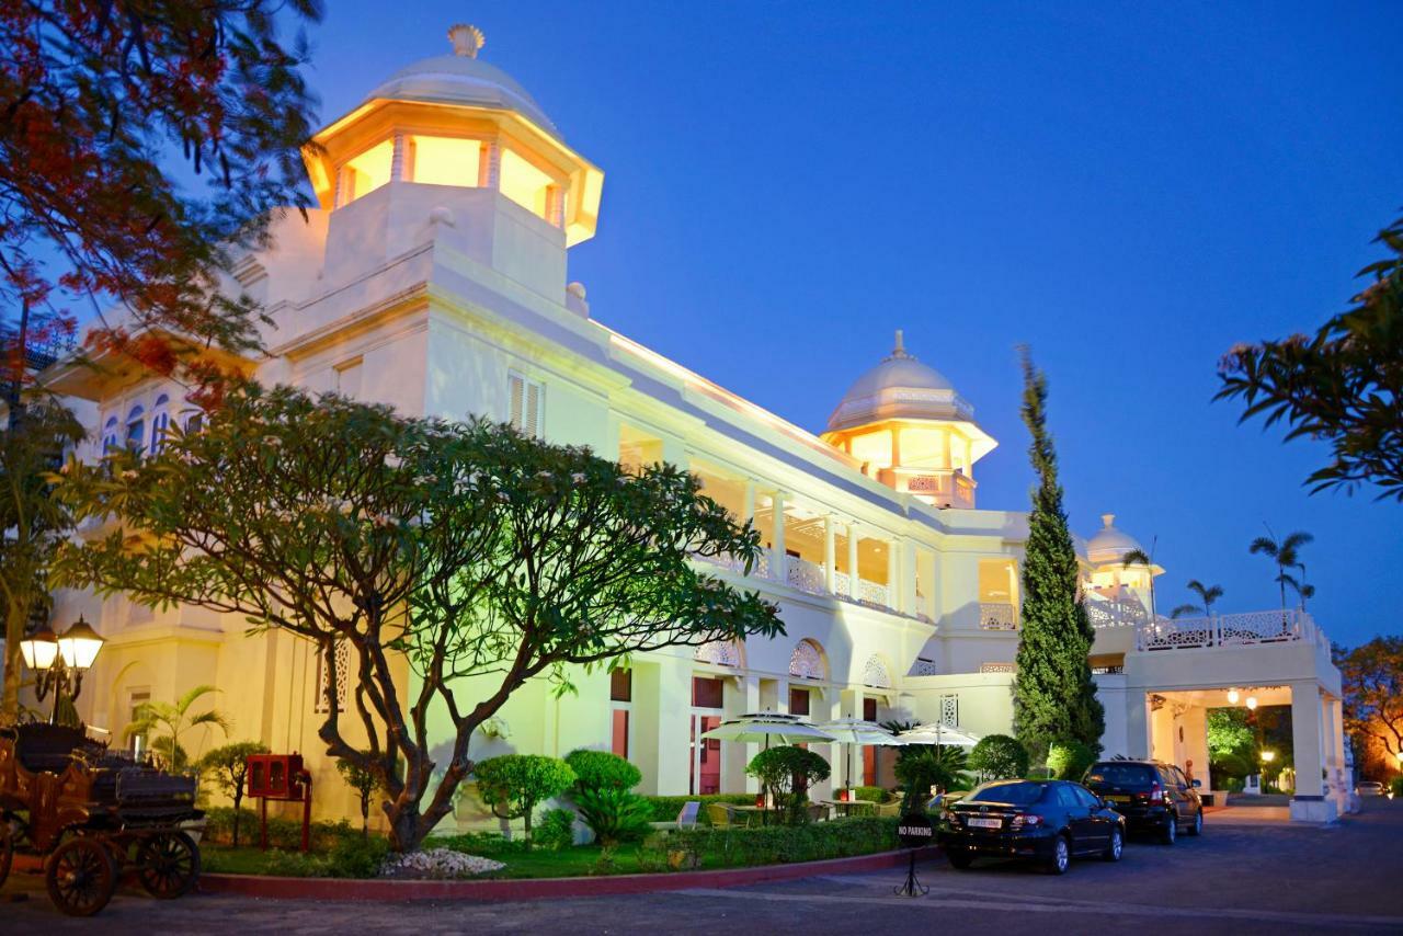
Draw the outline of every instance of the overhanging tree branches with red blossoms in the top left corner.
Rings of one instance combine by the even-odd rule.
[[[97,340],[171,372],[174,345],[248,348],[257,307],[215,288],[267,213],[309,203],[306,44],[275,15],[318,0],[25,0],[0,15],[0,305],[8,380],[31,324],[73,328],[72,302],[132,316]],[[206,185],[192,185],[188,174]],[[31,319],[32,313],[32,319]],[[195,366],[210,379],[209,365]]]

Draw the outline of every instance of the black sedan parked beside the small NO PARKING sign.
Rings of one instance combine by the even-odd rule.
[[[951,804],[937,838],[958,869],[981,856],[1019,857],[1065,874],[1073,856],[1121,860],[1125,820],[1080,783],[996,780]]]

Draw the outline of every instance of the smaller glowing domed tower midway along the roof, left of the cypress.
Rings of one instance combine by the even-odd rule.
[[[950,380],[906,352],[902,333],[828,418],[824,441],[863,473],[936,507],[974,508],[974,463],[998,442]]]

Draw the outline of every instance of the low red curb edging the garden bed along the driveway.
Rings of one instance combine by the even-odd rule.
[[[932,857],[936,846],[916,849],[916,857]],[[205,894],[240,894],[271,900],[334,901],[519,901],[550,897],[605,897],[685,891],[693,887],[741,887],[762,881],[786,881],[814,874],[875,871],[906,863],[908,852],[877,852],[854,857],[833,857],[796,864],[762,864],[704,871],[659,874],[607,874],[600,877],[522,877],[485,881],[407,881],[335,877],[265,877],[258,874],[201,874]]]

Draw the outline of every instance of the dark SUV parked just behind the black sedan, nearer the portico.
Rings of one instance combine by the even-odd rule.
[[[1173,763],[1099,761],[1082,783],[1124,815],[1128,828],[1156,832],[1164,845],[1173,845],[1181,831],[1204,831],[1198,780],[1190,783]]]

